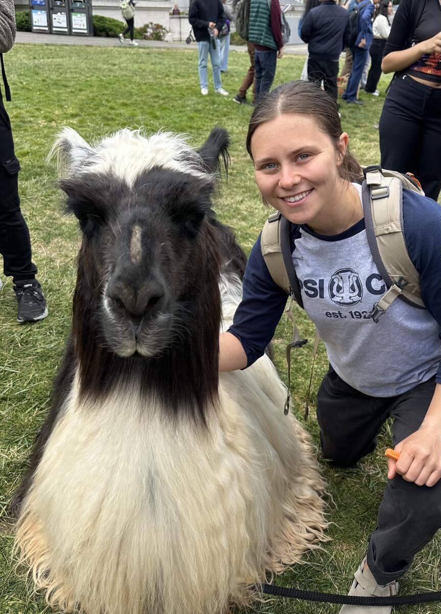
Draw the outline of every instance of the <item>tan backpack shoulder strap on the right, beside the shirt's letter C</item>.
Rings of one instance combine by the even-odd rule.
[[[398,296],[416,307],[424,308],[424,303],[420,274],[410,260],[403,233],[402,176],[394,171],[383,174],[380,167],[369,167],[364,172],[362,200],[367,239],[378,271],[388,286],[370,313],[374,322],[378,322]],[[419,191],[415,185],[413,188]]]

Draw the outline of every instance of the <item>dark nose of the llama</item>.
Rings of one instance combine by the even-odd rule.
[[[142,318],[159,311],[166,302],[166,292],[159,281],[148,281],[139,287],[126,283],[123,279],[112,279],[106,290],[113,306],[124,311],[138,328]]]

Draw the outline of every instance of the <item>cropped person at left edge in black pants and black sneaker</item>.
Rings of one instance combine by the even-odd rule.
[[[15,7],[13,0],[0,0],[0,58],[12,49],[15,41]],[[2,70],[6,100],[10,90],[6,72]],[[15,156],[9,115],[0,90],[0,254],[3,270],[12,277],[18,301],[17,322],[36,322],[47,314],[43,290],[36,279],[37,267],[32,262],[28,225],[20,210],[18,196],[20,162]],[[0,288],[2,283],[0,281]]]

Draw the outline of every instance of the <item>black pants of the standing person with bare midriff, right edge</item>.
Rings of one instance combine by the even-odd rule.
[[[441,89],[402,75],[391,85],[380,117],[383,168],[420,180],[426,196],[441,190]]]

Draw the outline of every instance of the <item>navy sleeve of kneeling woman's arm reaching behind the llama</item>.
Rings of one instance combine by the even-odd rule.
[[[247,367],[263,356],[282,317],[288,295],[277,286],[264,262],[260,236],[251,250],[244,276],[244,294],[227,332],[237,339],[247,354]]]

